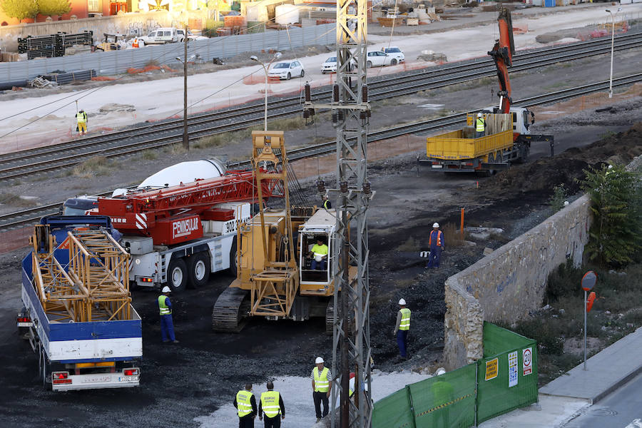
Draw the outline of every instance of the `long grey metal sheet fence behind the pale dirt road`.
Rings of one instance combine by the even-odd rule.
[[[253,53],[273,49],[287,51],[317,44],[335,44],[336,24],[322,24],[303,28],[292,27],[287,31],[239,34],[213,37],[189,42],[188,57],[198,54],[205,62],[213,58],[231,58],[243,52]],[[52,71],[96,70],[98,75],[125,73],[128,68],[143,68],[148,63],[178,63],[185,47],[180,43],[146,46],[142,49],[94,52],[41,58],[30,61],[0,63],[0,82],[19,81],[42,76]]]

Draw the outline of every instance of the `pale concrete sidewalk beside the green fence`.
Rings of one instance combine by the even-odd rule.
[[[642,371],[642,327],[539,389],[539,402],[479,424],[480,428],[551,428],[567,422]]]

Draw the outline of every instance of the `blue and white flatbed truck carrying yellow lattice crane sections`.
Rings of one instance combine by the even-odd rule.
[[[49,237],[53,236],[53,258],[49,263],[58,265],[60,276],[73,277],[70,254],[66,239],[76,228],[101,230],[113,233],[111,220],[105,216],[49,216],[41,219],[41,225],[48,225]],[[36,226],[37,228],[37,226]],[[42,233],[41,233],[42,234]],[[37,233],[34,239],[37,238]],[[116,240],[113,241],[116,243]],[[116,244],[118,245],[118,244]],[[118,249],[115,245],[115,248]],[[43,304],[43,290],[38,290],[39,278],[34,278],[34,263],[43,263],[37,253],[50,251],[45,245],[34,245],[34,250],[22,260],[22,302],[23,309],[18,315],[19,332],[29,340],[31,348],[39,358],[39,377],[44,387],[54,391],[75,389],[98,389],[136,387],[141,378],[139,367],[143,356],[143,333],[141,317],[126,305],[128,319],[108,319],[91,322],[73,322],[60,317]],[[50,251],[50,252],[51,252]],[[46,255],[45,255],[46,257]],[[76,258],[76,255],[72,255]],[[98,257],[90,255],[92,265],[101,263]],[[46,269],[43,266],[43,269]],[[40,272],[38,270],[38,272]],[[52,279],[50,284],[55,284]],[[79,289],[83,284],[76,282]],[[128,290],[126,290],[128,295]],[[63,305],[65,305],[63,303]]]

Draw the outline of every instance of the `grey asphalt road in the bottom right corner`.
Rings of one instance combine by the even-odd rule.
[[[642,373],[609,394],[564,428],[642,428]]]

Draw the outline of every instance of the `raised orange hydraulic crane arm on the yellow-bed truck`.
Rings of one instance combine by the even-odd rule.
[[[499,78],[499,113],[509,113],[511,109],[511,81],[508,76],[508,68],[513,65],[515,44],[513,41],[513,23],[511,13],[502,8],[497,17],[499,22],[499,40],[495,41],[493,50],[489,55],[493,57]]]

